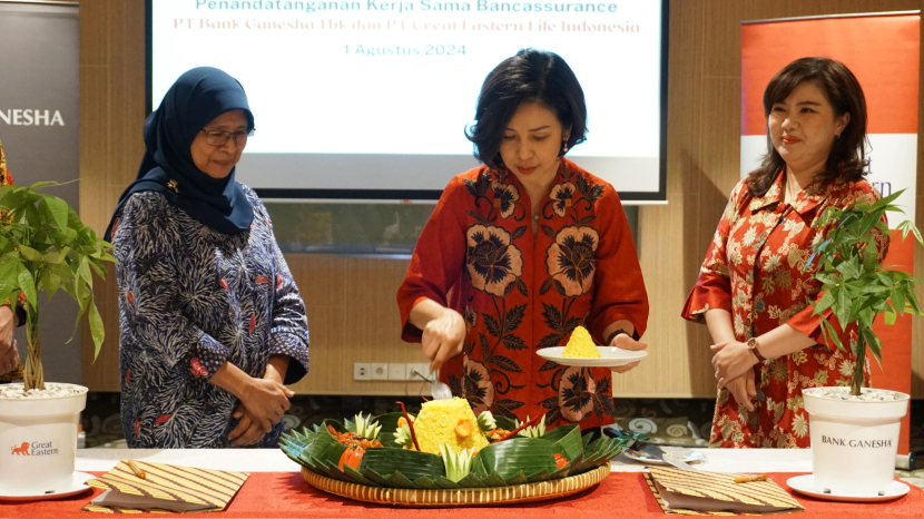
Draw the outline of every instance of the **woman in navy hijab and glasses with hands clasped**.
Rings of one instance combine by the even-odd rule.
[[[222,70],[180,76],[145,121],[107,229],[119,286],[121,417],[132,448],[275,447],[308,369],[308,323],[266,208],[235,180],[254,130]]]

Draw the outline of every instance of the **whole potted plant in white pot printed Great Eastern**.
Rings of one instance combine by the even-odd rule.
[[[77,321],[88,314],[95,354],[104,339],[94,272],[105,277],[104,263],[116,260],[107,252],[111,245],[97,238],[63,199],[38,190],[58,185],[0,187],[0,210],[6,214],[0,225],[0,301],[24,306],[28,342],[24,383],[0,385],[0,494],[4,497],[61,493],[78,484],[73,462],[87,388],[45,382],[39,293],[46,292],[50,300],[63,290],[80,304]],[[75,323],[75,332],[76,327]]]

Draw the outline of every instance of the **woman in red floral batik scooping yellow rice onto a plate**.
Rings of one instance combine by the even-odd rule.
[[[581,87],[557,55],[522,50],[484,80],[475,120],[484,166],[450,182],[421,234],[397,294],[402,337],[422,342],[475,413],[612,423],[610,370],[534,353],[578,325],[598,344],[646,347],[648,296],[619,195],[563,158],[584,140]]]

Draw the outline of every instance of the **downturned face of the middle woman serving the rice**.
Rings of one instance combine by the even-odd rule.
[[[569,135],[552,110],[524,102],[507,124],[501,159],[523,186],[548,186],[558,172],[561,141]]]

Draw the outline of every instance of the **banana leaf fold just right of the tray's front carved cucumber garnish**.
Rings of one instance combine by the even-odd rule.
[[[492,443],[475,454],[475,459],[480,462],[472,463],[472,471],[482,478],[492,472],[504,480],[519,472],[529,478],[543,470],[558,470],[552,443],[541,438],[513,438]]]

